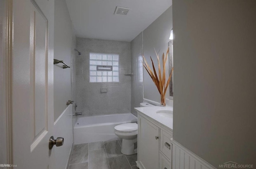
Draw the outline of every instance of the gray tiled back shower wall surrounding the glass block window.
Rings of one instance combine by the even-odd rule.
[[[76,38],[76,112],[83,116],[131,112],[130,42]],[[89,82],[90,52],[119,54],[119,82]],[[100,88],[107,93],[100,93]]]

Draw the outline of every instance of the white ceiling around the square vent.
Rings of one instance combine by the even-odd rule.
[[[130,42],[172,5],[172,0],[66,0],[76,36]],[[116,6],[131,8],[115,14]]]

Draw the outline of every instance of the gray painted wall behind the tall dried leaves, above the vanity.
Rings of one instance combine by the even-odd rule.
[[[158,62],[156,58],[156,51],[160,55],[160,64],[162,68],[162,54],[166,55],[167,48],[169,46],[168,42],[170,37],[170,32],[172,29],[172,6],[168,8],[161,16],[159,16],[148,28],[143,31],[143,54],[151,66],[150,56],[158,72]],[[152,66],[151,66],[152,69]],[[144,69],[143,69],[144,70]],[[153,70],[153,69],[152,69]],[[166,63],[166,81],[168,80],[169,75],[169,65]],[[169,96],[169,88],[166,92],[166,98],[172,99]],[[156,85],[144,70],[144,98],[160,103],[160,93],[158,92]]]

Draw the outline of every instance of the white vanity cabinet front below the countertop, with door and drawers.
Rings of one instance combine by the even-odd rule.
[[[172,130],[138,112],[138,161],[140,169],[172,169]]]

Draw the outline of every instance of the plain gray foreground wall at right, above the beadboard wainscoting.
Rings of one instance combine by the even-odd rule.
[[[173,0],[173,138],[214,167],[256,158],[256,1]]]

